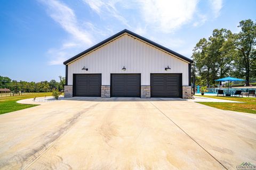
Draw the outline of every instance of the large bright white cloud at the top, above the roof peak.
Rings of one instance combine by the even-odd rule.
[[[169,33],[193,19],[198,0],[133,0],[130,4],[120,0],[83,0],[83,2],[102,18],[111,15],[130,27],[131,24],[128,23],[134,17],[136,21],[142,20],[135,23],[137,30],[139,30],[138,24],[145,24],[149,26],[148,29]],[[116,7],[117,5],[119,6]],[[130,10],[131,13],[126,15],[125,10]]]

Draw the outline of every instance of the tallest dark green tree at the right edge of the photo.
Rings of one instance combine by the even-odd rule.
[[[241,31],[234,34],[234,48],[237,50],[234,65],[236,73],[245,77],[246,86],[249,86],[251,75],[256,77],[256,23],[243,20],[238,27]]]

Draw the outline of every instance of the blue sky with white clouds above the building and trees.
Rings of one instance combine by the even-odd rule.
[[[238,32],[255,0],[23,0],[0,2],[0,75],[50,81],[63,61],[128,29],[190,57],[215,28]]]

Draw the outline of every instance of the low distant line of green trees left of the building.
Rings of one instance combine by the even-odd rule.
[[[59,82],[56,80],[41,81],[41,82],[27,82],[11,80],[8,77],[0,76],[0,88],[10,89],[12,92],[50,92],[53,89],[62,91],[65,86],[65,78],[59,76]]]

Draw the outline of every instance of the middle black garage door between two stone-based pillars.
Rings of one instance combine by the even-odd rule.
[[[140,97],[140,74],[111,74],[111,97]]]

